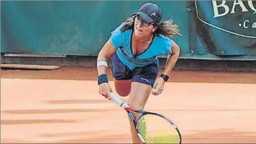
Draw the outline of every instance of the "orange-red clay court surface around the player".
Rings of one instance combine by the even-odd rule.
[[[1,143],[132,143],[126,112],[96,80],[95,68],[1,70]],[[256,143],[255,83],[255,73],[176,70],[145,110],[178,125],[182,143]]]

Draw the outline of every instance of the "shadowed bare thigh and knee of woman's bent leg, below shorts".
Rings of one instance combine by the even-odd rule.
[[[130,94],[132,80],[116,80],[114,78],[115,91],[122,96],[126,97]]]

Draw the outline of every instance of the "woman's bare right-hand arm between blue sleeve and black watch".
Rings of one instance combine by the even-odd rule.
[[[162,74],[170,76],[171,70],[173,70],[174,65],[178,61],[179,54],[181,49],[179,48],[178,44],[176,44],[173,40],[171,45],[171,54],[167,56],[167,62],[165,64],[164,72]]]

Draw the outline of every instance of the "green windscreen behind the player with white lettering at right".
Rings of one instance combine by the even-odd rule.
[[[146,1],[1,1],[1,52],[98,55]],[[256,1],[149,1],[173,17],[181,58],[256,59]]]

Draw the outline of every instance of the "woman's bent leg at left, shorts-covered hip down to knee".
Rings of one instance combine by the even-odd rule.
[[[132,77],[129,69],[118,59],[116,53],[110,58],[112,62],[112,74],[114,77],[115,91],[118,95],[126,97],[130,94]]]

